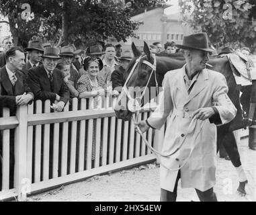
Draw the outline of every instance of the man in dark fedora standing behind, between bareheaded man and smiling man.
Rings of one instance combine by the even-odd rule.
[[[42,64],[42,54],[44,54],[44,49],[42,48],[42,44],[38,40],[32,40],[28,43],[28,48],[26,48],[28,52],[28,57],[30,60],[26,62],[24,65],[22,72],[27,76],[28,71],[32,67],[38,67]]]

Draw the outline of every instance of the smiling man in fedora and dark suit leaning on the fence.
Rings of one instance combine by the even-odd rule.
[[[32,67],[28,71],[28,85],[32,89],[35,99],[42,101],[50,99],[51,103],[57,101],[54,110],[61,112],[69,100],[69,89],[63,81],[61,72],[56,69],[59,57],[58,48],[46,47],[42,56],[42,65]]]

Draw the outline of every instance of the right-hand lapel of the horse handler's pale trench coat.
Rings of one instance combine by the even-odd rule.
[[[208,79],[209,79],[208,70],[204,69],[198,76],[198,80],[194,84],[194,87],[191,89],[191,92],[189,93],[187,102],[185,104],[191,101],[191,99],[193,99],[196,95],[198,95],[198,93],[200,93],[204,89],[204,87],[206,87],[207,85],[206,80]]]

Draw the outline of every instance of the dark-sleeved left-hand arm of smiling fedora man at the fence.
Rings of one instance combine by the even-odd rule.
[[[43,101],[47,99],[50,99],[50,100],[56,99],[56,93],[44,91],[41,89],[40,81],[32,69],[28,71],[27,83],[30,89],[32,90],[32,92],[34,93],[36,99],[41,99]]]

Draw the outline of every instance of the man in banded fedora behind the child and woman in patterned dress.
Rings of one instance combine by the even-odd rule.
[[[73,81],[74,86],[77,87],[77,81],[81,77],[81,73],[79,72],[79,70],[77,70],[77,68],[73,64],[73,60],[75,58],[75,50],[73,46],[63,46],[60,50],[60,57],[63,60],[66,60],[67,62],[69,62],[69,64],[71,65],[71,71],[70,71],[71,76],[69,77],[69,80]]]

